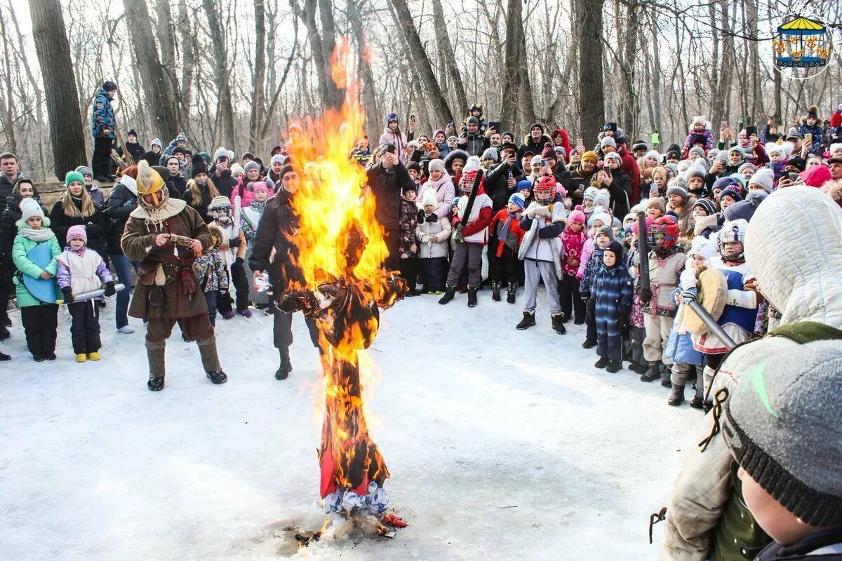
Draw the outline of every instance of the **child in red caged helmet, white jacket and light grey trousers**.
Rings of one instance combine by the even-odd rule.
[[[517,328],[524,330],[536,325],[538,284],[543,280],[546,297],[550,300],[552,329],[563,335],[567,330],[562,321],[562,306],[558,302],[558,279],[562,277],[564,248],[558,236],[567,224],[565,193],[563,188],[557,186],[555,177],[545,175],[536,181],[534,194],[535,201],[520,219],[520,228],[525,233],[518,258],[524,262],[526,306],[523,320],[520,320]]]

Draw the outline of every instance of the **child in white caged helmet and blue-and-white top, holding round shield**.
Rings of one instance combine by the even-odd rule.
[[[743,254],[745,232],[749,228],[746,220],[731,220],[722,226],[717,235],[719,255],[710,260],[711,268],[725,275],[727,300],[717,323],[737,344],[748,341],[754,333],[757,308],[763,298],[757,292],[757,284],[749,273],[749,266]],[[681,293],[681,301],[695,299],[692,290]],[[719,337],[711,332],[694,333],[693,348],[705,355],[705,388],[709,388],[722,358],[730,350]]]

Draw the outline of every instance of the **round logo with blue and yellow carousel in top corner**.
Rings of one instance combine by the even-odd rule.
[[[775,68],[786,77],[804,80],[818,76],[827,68],[833,35],[821,20],[796,13],[784,19],[772,45]]]

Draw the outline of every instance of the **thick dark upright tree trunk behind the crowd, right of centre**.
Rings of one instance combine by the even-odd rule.
[[[575,0],[574,24],[579,29],[579,135],[587,146],[605,124],[605,97],[602,77],[603,0]]]

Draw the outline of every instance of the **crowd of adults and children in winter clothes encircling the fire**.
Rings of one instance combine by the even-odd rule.
[[[148,322],[149,389],[163,389],[163,346],[175,323],[185,341],[198,343],[210,381],[225,382],[213,335],[217,313],[224,320],[248,319],[252,310],[274,315],[280,354],[275,378],[286,378],[292,369],[290,314],[258,288],[271,286],[280,296],[301,280],[292,201],[306,170],[290,160],[284,146],[273,149],[267,166],[253,154],[237,157],[226,148],[213,156],[191,151],[184,135],[165,149],[152,140],[145,151],[130,130],[125,149],[132,165],[115,174],[103,156],[114,146],[109,102],[115,91],[113,82],[105,82],[94,103],[92,167],[66,173],[66,191],[49,212],[19,171],[18,159],[0,155],[0,197],[7,201],[0,339],[9,336],[13,290],[29,352],[35,361],[56,358],[58,304],[39,299],[24,282],[26,277],[55,279],[72,316],[77,361],[99,360],[100,303],[102,296],[115,294],[116,278],[126,287],[116,293],[117,331],[134,331],[130,314]],[[765,284],[791,263],[759,280],[747,262],[747,246],[761,237],[752,238],[753,227],[774,236],[786,227],[789,214],[797,214],[786,205],[781,210],[781,203],[770,210],[773,205],[766,201],[779,192],[795,193],[789,204],[796,207],[807,201],[819,209],[830,201],[838,206],[821,207],[819,214],[839,226],[834,213],[842,206],[842,106],[827,121],[812,106],[785,132],[770,122],[762,130],[746,126],[734,135],[723,122],[718,140],[711,124],[696,117],[686,137],[664,151],[627,138],[614,122],[605,124],[591,149],[583,139],[572,142],[567,130],[541,123],[520,139],[484,119],[478,104],[468,108],[460,130],[450,123],[416,135],[414,119],[408,124],[403,131],[398,115],[387,115],[376,146],[361,139],[349,154],[365,167],[365,192],[376,199],[376,219],[389,250],[384,267],[406,279],[408,296],[434,294],[439,304],[450,304],[457,294],[466,294],[467,306],[475,307],[486,287],[490,295],[483,306],[504,305],[493,304],[503,294],[508,304],[522,299],[523,317],[511,328],[527,330],[537,324],[543,284],[552,330],[564,336],[570,322],[585,325],[581,345],[595,348],[595,368],[617,373],[625,365],[644,383],[660,379],[670,389],[667,403],[674,406],[685,401],[686,387],[694,384],[690,405],[712,408],[717,427],[722,380],[715,382],[715,375],[733,357],[733,346],[803,320],[787,317],[784,303],[790,294],[775,299],[772,294],[781,287]],[[98,182],[110,179],[116,183],[106,198]],[[803,186],[822,198],[802,195]],[[757,227],[757,216],[767,210]],[[837,252],[839,231],[829,232]],[[45,260],[35,257],[39,246],[45,246]],[[757,246],[755,251],[774,250]],[[97,288],[101,295],[77,299]],[[196,292],[204,298],[193,298]],[[692,305],[701,296],[708,314]],[[307,325],[318,347],[315,325],[312,320]],[[835,355],[824,347],[818,351],[825,354],[813,360],[825,355],[836,360],[838,374],[838,348]],[[820,368],[829,367],[822,363]],[[735,431],[750,431],[747,427],[758,422],[739,415],[729,417]],[[735,447],[744,442],[733,439],[733,434],[726,437],[739,462]],[[760,477],[754,464],[740,465]],[[842,525],[839,480],[822,491],[830,514],[813,516],[818,527]],[[669,543],[678,551],[675,543],[688,538],[680,527],[682,506],[674,509],[679,514],[669,528],[680,537]],[[801,516],[797,509],[789,511]],[[839,532],[831,533],[839,538]]]

